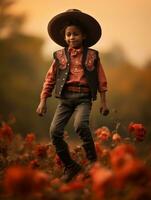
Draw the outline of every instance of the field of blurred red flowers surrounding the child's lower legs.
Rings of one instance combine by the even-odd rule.
[[[11,124],[1,122],[0,199],[150,200],[151,155],[142,145],[146,134],[138,123],[129,124],[127,137],[98,128],[94,133],[98,161],[88,169],[83,148],[71,146],[73,159],[84,170],[63,183],[63,165],[51,143],[38,142],[35,133],[22,137]],[[65,140],[68,137],[66,133]]]

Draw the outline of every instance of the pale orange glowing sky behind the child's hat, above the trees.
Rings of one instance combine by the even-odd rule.
[[[150,0],[17,0],[13,11],[26,14],[24,31],[43,37],[44,54],[50,55],[60,47],[49,39],[47,24],[69,8],[88,13],[101,24],[103,35],[93,48],[107,51],[119,44],[127,58],[140,67],[151,58]]]

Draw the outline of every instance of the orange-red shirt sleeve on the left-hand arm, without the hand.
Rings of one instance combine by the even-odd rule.
[[[46,99],[52,96],[52,91],[56,83],[56,60],[54,59],[43,83],[40,99]]]

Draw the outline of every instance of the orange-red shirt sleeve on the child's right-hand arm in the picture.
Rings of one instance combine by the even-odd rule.
[[[99,92],[107,91],[107,79],[102,64],[100,62],[100,59],[98,60],[98,81],[99,81],[98,91]]]

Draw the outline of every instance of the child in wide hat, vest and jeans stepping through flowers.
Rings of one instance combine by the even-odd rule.
[[[74,129],[83,142],[89,163],[97,160],[94,141],[89,128],[92,100],[97,90],[101,97],[101,113],[107,115],[106,77],[98,52],[89,49],[101,37],[101,27],[90,15],[77,9],[70,9],[56,15],[48,24],[48,33],[53,41],[64,49],[54,53],[54,60],[46,75],[37,113],[46,112],[46,99],[52,95],[60,98],[50,126],[52,142],[56,153],[65,166],[62,180],[68,182],[76,176],[81,166],[70,156],[67,143],[63,140],[64,127],[74,113]]]

